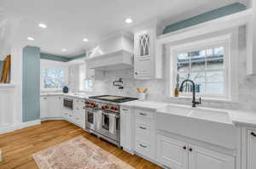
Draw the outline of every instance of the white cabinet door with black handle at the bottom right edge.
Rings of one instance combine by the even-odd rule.
[[[256,130],[247,130],[247,169],[256,168]]]

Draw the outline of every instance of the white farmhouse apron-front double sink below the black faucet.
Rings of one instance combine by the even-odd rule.
[[[156,128],[204,143],[236,149],[236,127],[224,110],[170,104],[157,110]]]

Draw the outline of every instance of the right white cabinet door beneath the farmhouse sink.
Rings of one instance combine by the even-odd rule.
[[[189,169],[235,169],[235,157],[189,145]]]

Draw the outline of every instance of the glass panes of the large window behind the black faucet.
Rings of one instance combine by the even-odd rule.
[[[224,46],[203,48],[177,54],[177,86],[186,79],[195,82],[195,92],[224,95]],[[184,93],[191,93],[191,83],[186,83]]]

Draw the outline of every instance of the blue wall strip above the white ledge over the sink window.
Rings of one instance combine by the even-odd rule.
[[[229,14],[235,14],[237,12],[241,12],[242,10],[245,10],[246,6],[241,3],[233,3],[228,6],[214,9],[210,12],[207,12],[205,14],[199,14],[195,17],[189,18],[188,20],[182,20],[175,24],[166,26],[164,30],[164,34],[177,31],[192,25],[201,24],[203,22],[209,21],[209,20],[215,20],[219,17],[223,17]]]

